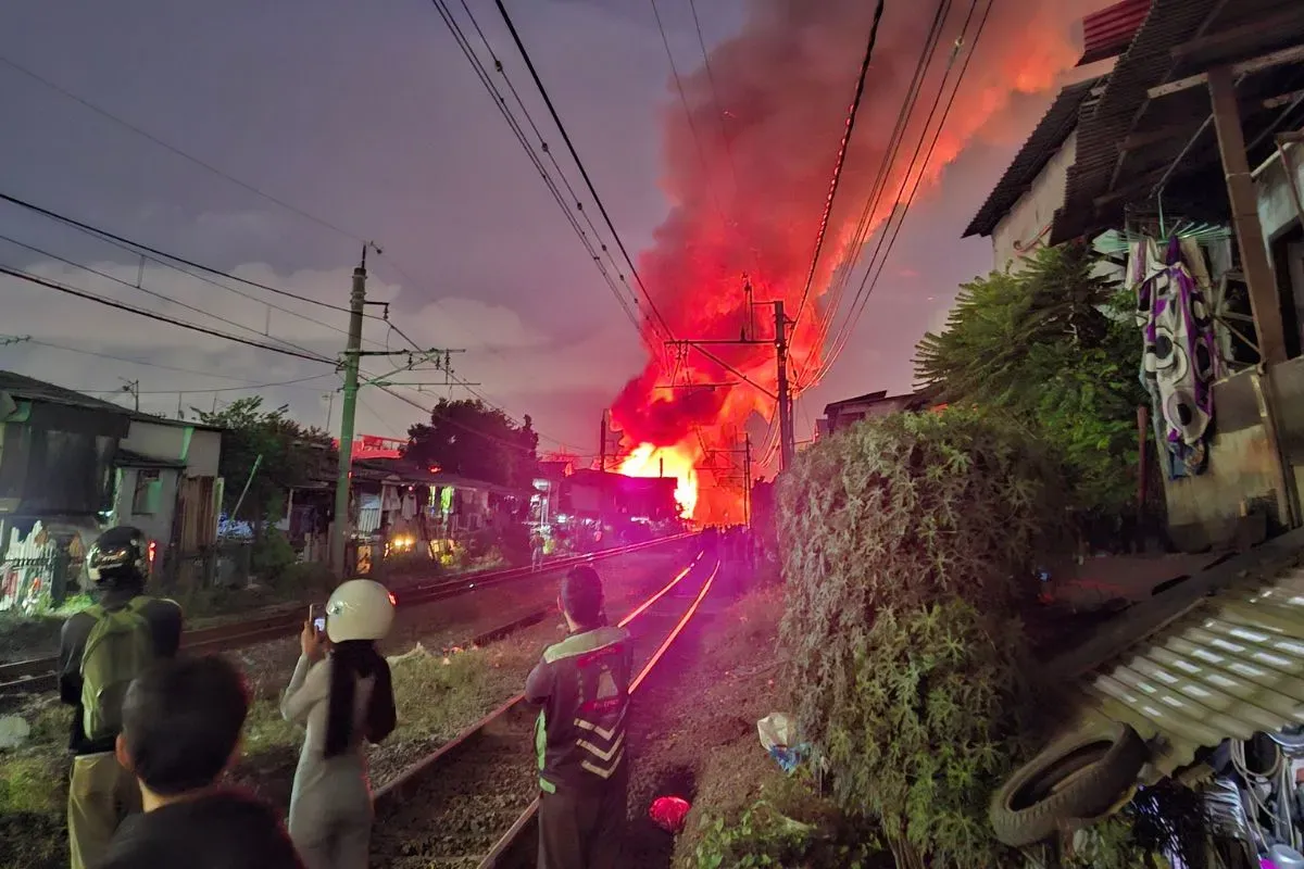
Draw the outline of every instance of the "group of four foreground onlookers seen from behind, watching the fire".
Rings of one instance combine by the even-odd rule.
[[[363,869],[372,795],[365,744],[396,726],[390,668],[377,649],[394,597],[370,580],[340,584],[300,634],[280,711],[305,728],[288,823],[222,783],[249,713],[243,674],[220,657],[179,658],[181,608],[146,594],[149,541],[106,532],[87,555],[98,602],[60,642],[60,696],[74,707],[68,791],[73,869]],[[529,674],[541,707],[544,869],[617,866],[625,821],[625,728],[632,655],[606,623],[591,567],[562,582],[567,637]]]

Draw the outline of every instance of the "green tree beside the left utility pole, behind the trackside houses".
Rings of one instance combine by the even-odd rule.
[[[261,534],[265,522],[284,516],[292,487],[308,483],[313,472],[321,468],[334,474],[338,463],[330,435],[299,425],[287,416],[288,410],[286,405],[263,410],[258,396],[239,399],[216,413],[196,409],[205,425],[226,429],[220,460],[220,473],[226,478],[222,511],[232,520],[250,522],[256,535]],[[236,516],[233,511],[246,481],[249,491]]]

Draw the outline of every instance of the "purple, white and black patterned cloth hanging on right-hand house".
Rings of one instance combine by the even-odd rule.
[[[1183,245],[1172,238],[1163,254],[1153,238],[1132,245],[1128,275],[1136,287],[1141,328],[1141,383],[1150,395],[1155,439],[1170,478],[1204,473],[1213,422],[1218,358],[1213,318]],[[1200,254],[1198,249],[1196,255]]]

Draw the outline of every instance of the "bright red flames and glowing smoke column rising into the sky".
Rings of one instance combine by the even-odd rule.
[[[934,12],[930,4],[888,4],[812,291],[803,300],[874,5],[754,0],[742,31],[711,52],[709,72],[704,65],[683,78],[687,112],[678,93],[672,94],[664,143],[672,208],[655,245],[643,251],[639,271],[675,337],[732,340],[742,332],[754,343],[712,345],[711,353],[728,366],[698,350],[653,358],[626,384],[612,406],[626,443],[638,444],[626,473],[655,474],[662,456],[668,474],[691,472],[689,456],[737,449],[738,433],[750,421],[773,417],[775,401],[762,391],[776,391],[768,344],[773,313],[762,305],[748,309],[742,275],[750,276],[755,302],[784,300],[789,318],[802,309],[790,336],[792,371],[812,370],[823,358],[827,309],[835,307],[824,293],[857,253],[857,225],[888,156]],[[880,227],[892,212],[904,181],[922,177],[925,195],[971,142],[1003,126],[1017,95],[1054,87],[1080,55],[1073,25],[1101,5],[1103,0],[995,4],[931,162],[911,165],[947,52],[965,18],[962,10],[953,12],[868,228]],[[689,383],[724,386],[683,388]],[[764,463],[768,456],[759,447],[765,438],[754,430],[752,439],[758,464]],[[700,504],[695,473],[691,482],[681,477],[695,517],[741,519],[737,474],[712,477],[703,481]]]

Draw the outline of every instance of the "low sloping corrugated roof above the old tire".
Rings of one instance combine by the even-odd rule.
[[[1304,723],[1301,552],[1304,533],[1292,532],[1134,607],[1095,649],[1052,663],[1063,674],[1119,650],[1077,680],[1074,726],[1098,715],[1132,726],[1151,743],[1154,780],[1224,739]]]

